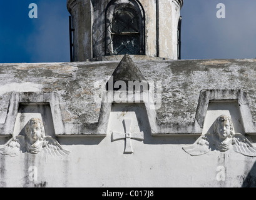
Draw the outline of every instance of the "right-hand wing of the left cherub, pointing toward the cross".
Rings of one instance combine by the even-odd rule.
[[[66,156],[70,151],[63,149],[63,147],[56,141],[56,139],[51,138],[51,136],[46,136],[44,138],[44,149],[46,152],[53,156]]]

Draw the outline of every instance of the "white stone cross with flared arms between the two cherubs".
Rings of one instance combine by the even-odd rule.
[[[138,133],[131,133],[131,119],[124,119],[123,120],[123,128],[125,129],[125,133],[118,133],[113,132],[112,133],[112,140],[116,141],[119,139],[125,139],[125,154],[132,154],[133,148],[131,146],[131,139],[138,139],[143,141],[144,139],[144,133],[138,132]]]

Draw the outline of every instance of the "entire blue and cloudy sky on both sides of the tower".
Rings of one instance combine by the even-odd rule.
[[[217,4],[225,4],[218,19]],[[29,4],[38,5],[30,19]],[[0,63],[69,61],[66,0],[0,2]],[[184,0],[182,59],[256,58],[255,0]]]

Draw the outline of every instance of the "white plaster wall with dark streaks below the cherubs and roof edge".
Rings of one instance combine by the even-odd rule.
[[[145,135],[144,142],[132,141],[133,154],[123,154],[125,142],[111,142],[110,135],[58,138],[71,151],[68,157],[0,155],[0,184],[2,187],[255,187],[255,158],[233,151],[190,156],[182,146],[194,143],[195,139]],[[37,181],[29,180],[29,174],[34,173],[31,166],[38,169]],[[221,172],[218,166],[227,171],[225,181],[217,179]]]

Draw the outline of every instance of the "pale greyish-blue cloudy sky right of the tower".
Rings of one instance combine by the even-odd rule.
[[[184,0],[181,15],[182,59],[256,58],[255,0]]]

